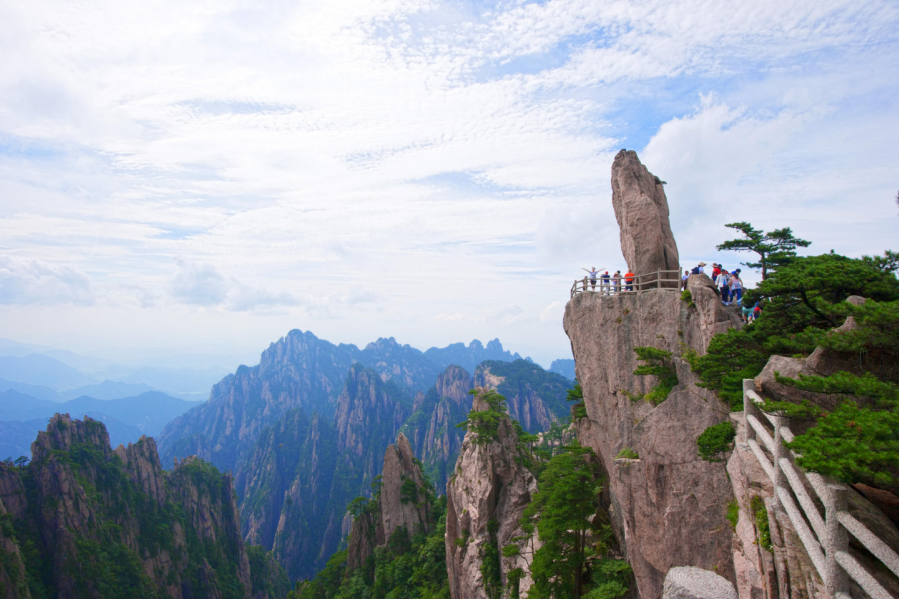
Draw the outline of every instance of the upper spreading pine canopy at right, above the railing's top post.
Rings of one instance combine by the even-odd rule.
[[[844,301],[850,295],[869,301],[853,306]],[[716,391],[731,409],[742,409],[743,379],[758,376],[772,355],[807,355],[819,344],[854,356],[859,368],[880,378],[899,374],[899,281],[872,259],[795,258],[746,297],[762,302],[762,318],[715,335],[703,356],[685,355],[700,386]],[[856,330],[828,333],[847,316]]]

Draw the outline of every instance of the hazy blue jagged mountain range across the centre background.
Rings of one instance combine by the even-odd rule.
[[[197,455],[235,472],[247,542],[271,549],[292,579],[310,577],[345,534],[347,503],[370,494],[398,431],[443,492],[474,385],[499,388],[528,431],[569,413],[571,381],[499,340],[421,352],[391,337],[359,349],[293,330],[166,425],[160,459],[170,468]]]

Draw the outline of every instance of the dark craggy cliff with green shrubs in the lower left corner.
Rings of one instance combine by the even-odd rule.
[[[152,439],[113,451],[102,423],[68,415],[32,454],[26,467],[0,466],[0,544],[28,548],[31,594],[251,596],[228,475],[196,458],[166,473]]]

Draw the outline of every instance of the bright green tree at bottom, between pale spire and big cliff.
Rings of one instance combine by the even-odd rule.
[[[627,593],[630,569],[622,562],[603,559],[608,547],[602,540],[609,538],[610,527],[594,524],[603,484],[598,460],[577,444],[567,449],[541,472],[538,491],[521,519],[525,534],[536,529],[543,543],[530,565],[534,585],[528,597],[622,596]],[[591,537],[597,542],[591,544]],[[504,554],[513,552],[504,548]],[[510,591],[515,596],[517,585]]]

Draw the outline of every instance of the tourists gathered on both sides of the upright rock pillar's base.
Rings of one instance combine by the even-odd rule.
[[[690,278],[690,275],[706,274],[706,266],[705,262],[700,262],[692,269],[684,269],[681,288],[687,288],[687,279]],[[623,275],[620,270],[616,270],[615,274],[612,275],[607,270],[600,273],[595,266],[589,270],[586,268],[582,270],[587,272],[587,276],[582,281],[584,291],[588,290],[588,286],[590,291],[593,292],[596,292],[596,287],[599,286],[599,293],[603,295],[615,295],[623,291],[634,290],[634,280],[637,278],[637,275],[631,272],[630,269]],[[741,269],[739,268],[728,271],[722,265],[713,262],[710,276],[715,284],[717,293],[721,297],[721,303],[725,306],[740,306],[741,317],[744,322],[748,323],[761,315],[761,308],[758,302],[748,305],[747,300],[744,300],[743,279],[740,278],[740,272]]]

